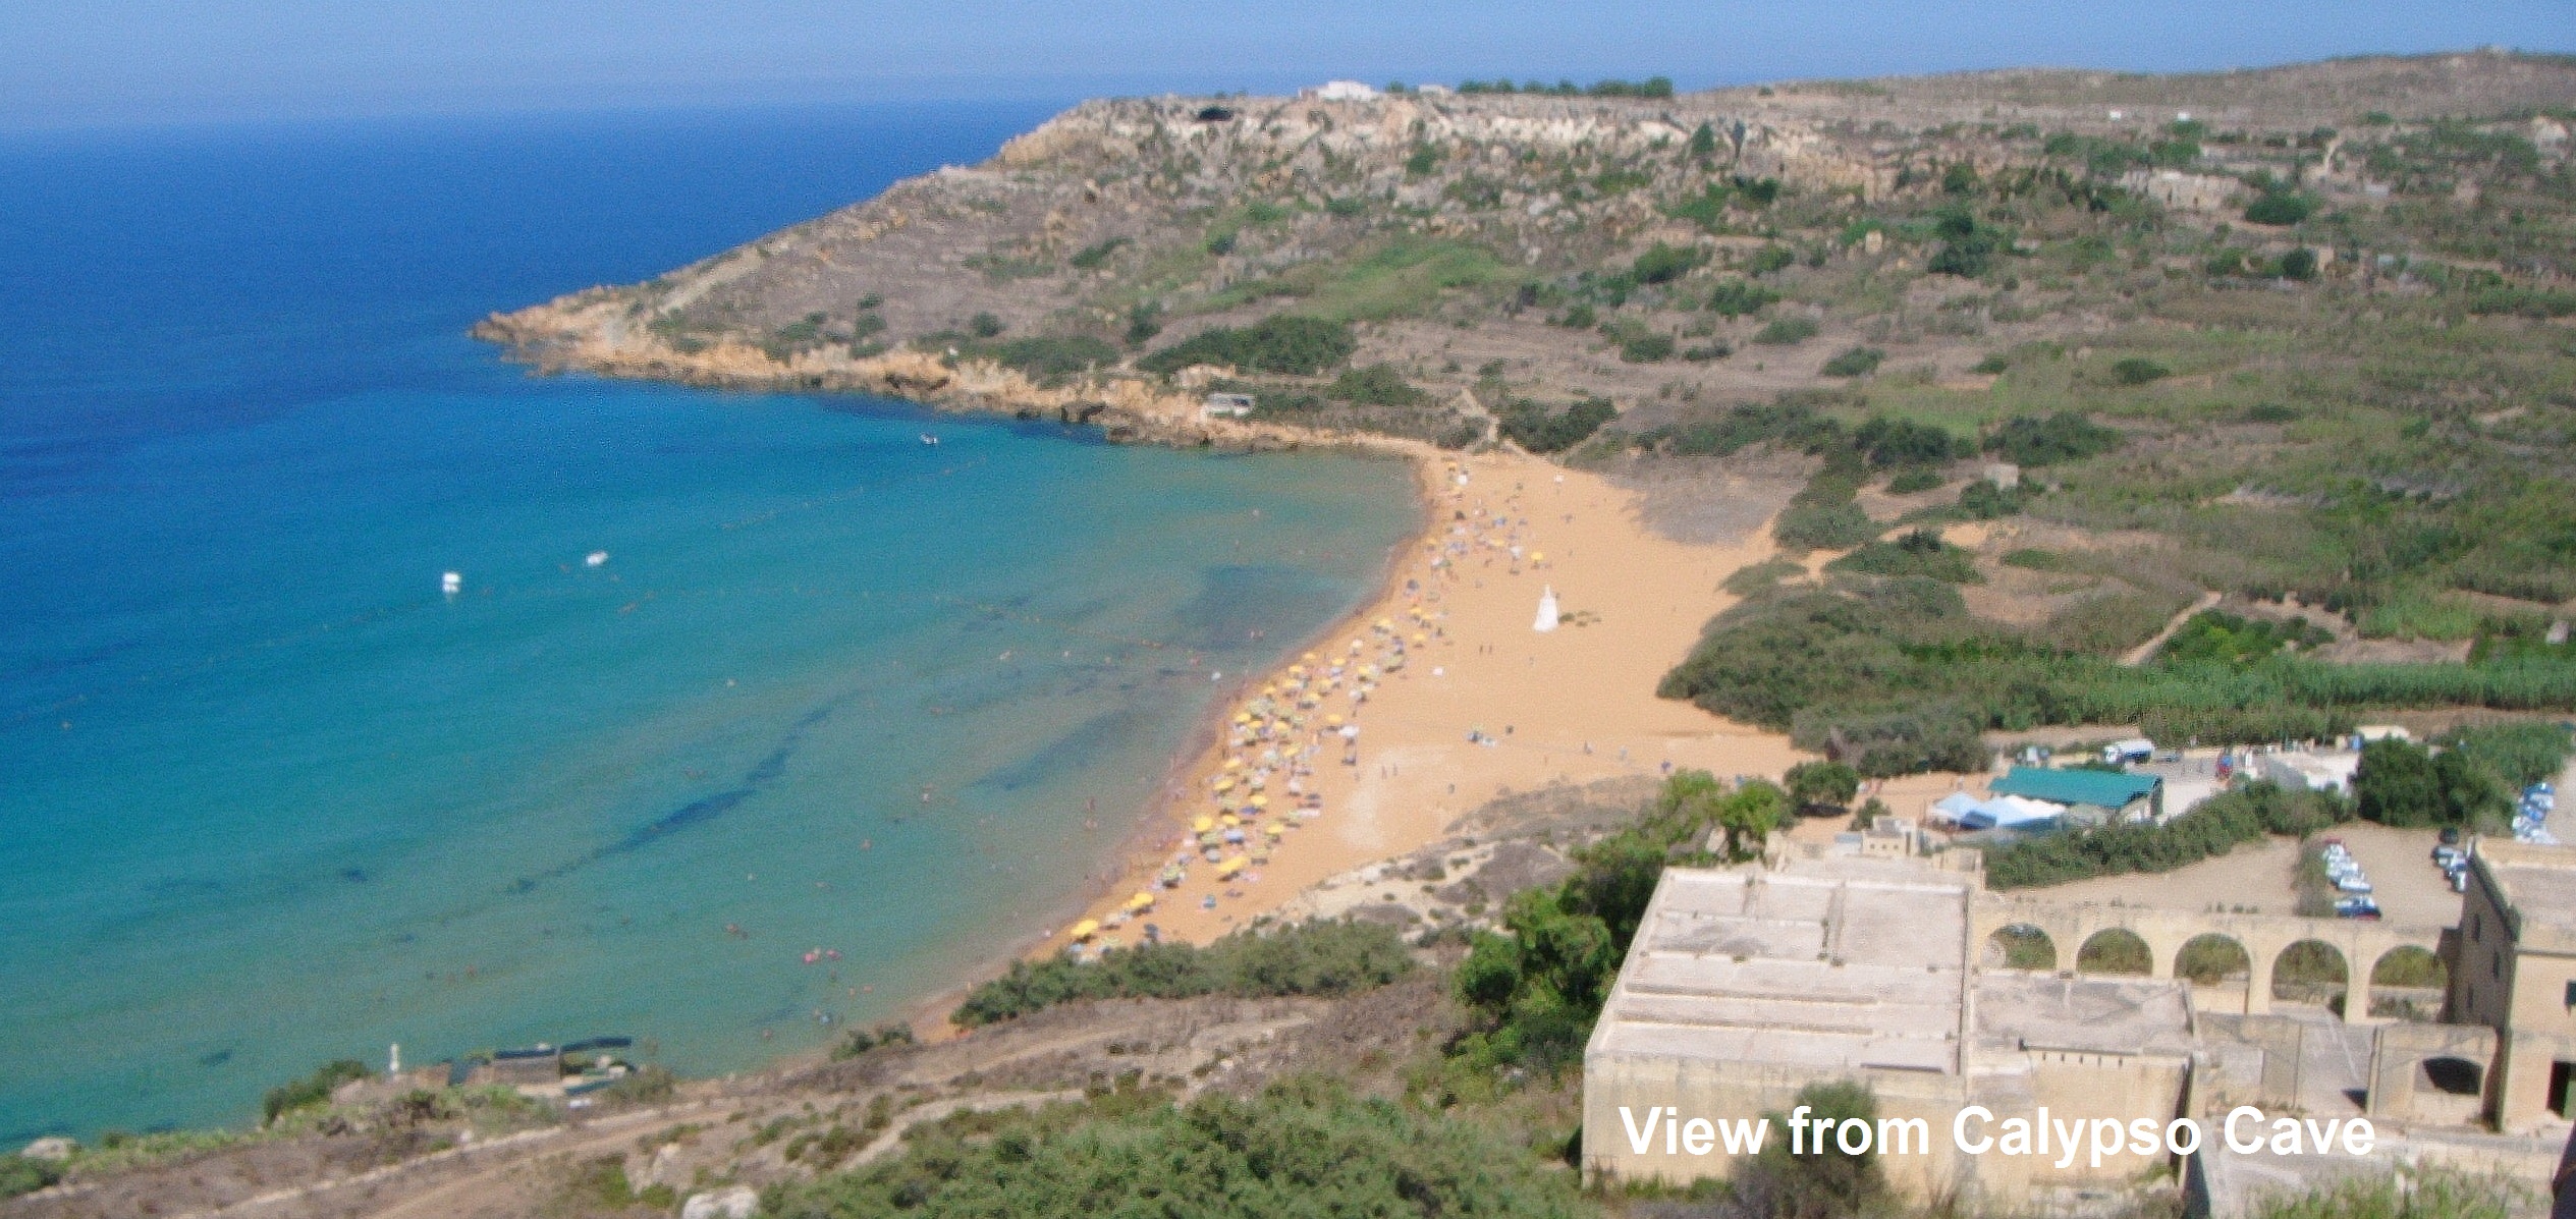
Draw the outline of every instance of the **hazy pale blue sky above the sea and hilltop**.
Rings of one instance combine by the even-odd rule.
[[[2576,0],[0,0],[0,126],[2576,49]]]

